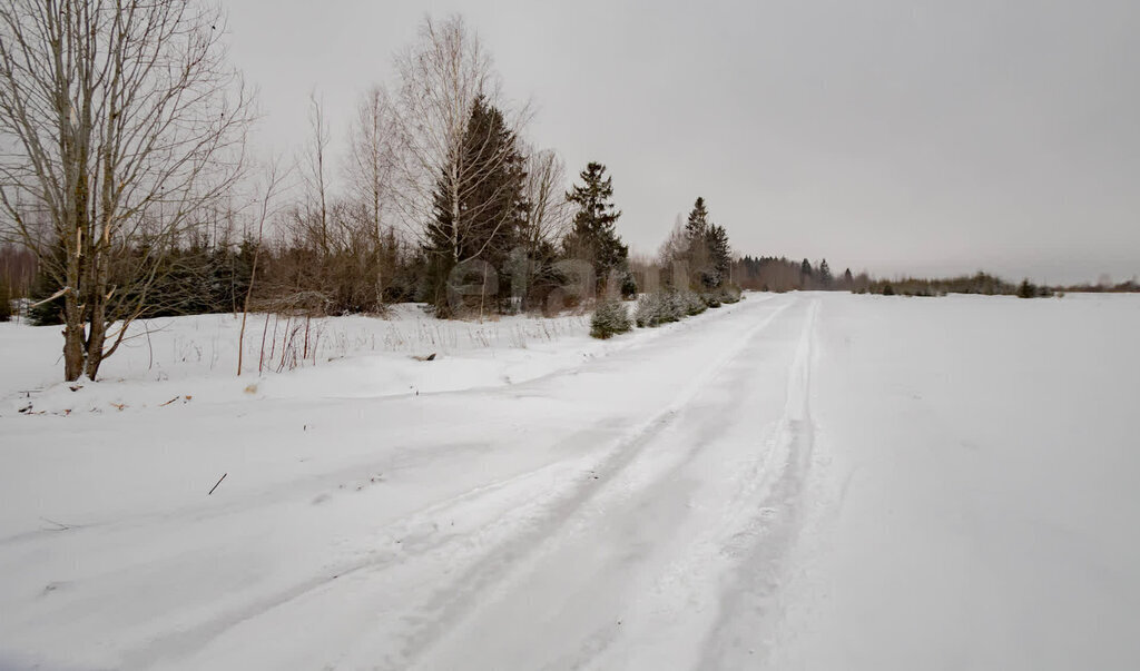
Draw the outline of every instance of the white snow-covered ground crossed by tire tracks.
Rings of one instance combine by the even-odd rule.
[[[147,326],[0,325],[0,668],[1140,660],[1140,296]]]

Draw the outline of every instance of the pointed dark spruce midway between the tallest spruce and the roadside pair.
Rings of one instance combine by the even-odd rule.
[[[563,242],[563,249],[568,256],[585,259],[594,264],[598,288],[608,280],[611,271],[617,271],[621,276],[621,289],[625,294],[632,285],[628,270],[629,247],[621,244],[621,237],[614,227],[621,212],[611,202],[613,178],[605,175],[604,165],[593,161],[579,177],[583,183],[575,185],[567,193],[567,201],[578,210],[573,215],[573,228]],[[633,288],[635,292],[635,286]]]

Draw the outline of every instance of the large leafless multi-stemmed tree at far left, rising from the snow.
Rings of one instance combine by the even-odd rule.
[[[252,104],[222,19],[192,0],[0,6],[3,229],[60,287],[68,380],[96,378],[241,171]]]

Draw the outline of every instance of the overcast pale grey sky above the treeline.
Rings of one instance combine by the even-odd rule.
[[[222,0],[261,133],[343,137],[426,13],[462,13],[530,140],[605,163],[653,252],[705,196],[741,253],[879,275],[1140,273],[1140,2]]]

